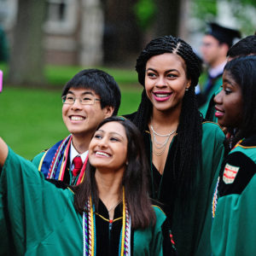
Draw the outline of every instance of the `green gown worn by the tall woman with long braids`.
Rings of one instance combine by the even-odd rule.
[[[135,114],[125,115],[125,118],[132,120]],[[177,255],[210,256],[212,195],[224,157],[223,131],[215,123],[202,123],[202,163],[197,169],[195,193],[189,195],[188,202],[185,203],[185,206],[189,206],[187,209],[183,208],[183,201],[178,199],[175,193],[172,161],[176,150],[176,137],[172,139],[162,175],[152,164],[152,142],[149,131],[144,131],[143,138],[151,166],[151,196],[163,204],[164,212],[170,218]]]

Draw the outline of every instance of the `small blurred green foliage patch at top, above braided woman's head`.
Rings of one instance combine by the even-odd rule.
[[[133,7],[137,22],[142,29],[147,29],[154,21],[156,5],[154,0],[139,0]]]

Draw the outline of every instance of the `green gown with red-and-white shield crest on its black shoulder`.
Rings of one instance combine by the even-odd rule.
[[[253,151],[256,155],[256,148]],[[235,152],[224,161],[218,204],[212,224],[212,255],[256,254],[256,164]]]

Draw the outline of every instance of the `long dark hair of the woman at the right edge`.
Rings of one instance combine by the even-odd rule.
[[[229,61],[224,70],[229,72],[236,84],[241,87],[243,98],[241,127],[236,132],[236,140],[232,142],[235,144],[242,137],[256,134],[256,56],[238,57]]]

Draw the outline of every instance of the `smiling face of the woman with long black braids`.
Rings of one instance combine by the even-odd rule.
[[[189,88],[190,83],[186,76],[186,65],[179,55],[165,53],[148,60],[145,90],[155,109],[180,110],[185,89]]]

